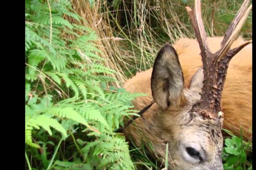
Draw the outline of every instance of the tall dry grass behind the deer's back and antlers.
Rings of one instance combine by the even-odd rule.
[[[120,1],[119,5],[115,3]],[[209,36],[222,36],[242,0],[203,0],[202,15]],[[157,50],[180,37],[195,38],[185,6],[193,0],[74,0],[74,10],[85,18],[107,67],[122,86],[130,76],[152,67]],[[118,3],[117,3],[118,4]],[[92,6],[91,6],[92,5]],[[115,5],[115,6],[114,6]],[[251,17],[243,33],[251,33]],[[249,23],[249,24],[248,24]]]

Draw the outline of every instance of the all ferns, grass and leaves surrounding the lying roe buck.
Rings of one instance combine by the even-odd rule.
[[[203,1],[208,34],[223,35],[241,3]],[[167,166],[114,131],[143,96],[122,84],[151,68],[163,43],[194,37],[185,5],[192,0],[26,0],[27,170]],[[225,141],[225,169],[252,169],[252,143]]]

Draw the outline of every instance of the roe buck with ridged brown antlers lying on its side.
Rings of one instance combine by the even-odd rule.
[[[194,11],[186,7],[198,42],[185,38],[166,44],[153,69],[125,83],[132,93],[149,94],[133,101],[135,109],[155,101],[127,126],[127,138],[160,160],[168,143],[168,163],[175,169],[223,169],[222,125],[237,135],[242,126],[245,139],[252,135],[252,41],[235,40],[252,8],[248,4],[243,2],[224,37],[208,38],[200,0]]]

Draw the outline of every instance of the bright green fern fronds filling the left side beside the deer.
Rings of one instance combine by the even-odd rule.
[[[133,169],[113,131],[140,95],[108,87],[115,71],[98,62],[95,32],[64,15],[82,20],[66,0],[26,1],[27,168]]]

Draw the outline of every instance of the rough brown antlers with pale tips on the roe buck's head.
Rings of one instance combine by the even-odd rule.
[[[203,62],[204,82],[200,113],[211,119],[217,118],[218,112],[221,111],[221,94],[230,60],[243,49],[243,47],[252,42],[247,41],[235,49],[230,49],[252,9],[252,5],[247,8],[248,4],[249,0],[244,0],[220,44],[221,48],[216,53],[211,52],[207,43],[207,35],[201,16],[200,0],[195,0],[194,11],[192,11],[190,7],[186,7],[200,46],[200,55]]]

